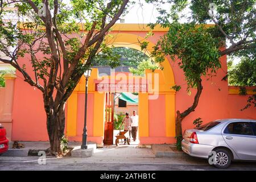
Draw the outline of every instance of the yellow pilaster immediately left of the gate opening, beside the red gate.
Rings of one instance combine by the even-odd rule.
[[[93,137],[104,137],[105,94],[94,92]]]

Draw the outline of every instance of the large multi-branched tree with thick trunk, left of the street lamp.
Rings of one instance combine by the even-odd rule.
[[[1,1],[0,51],[9,59],[0,61],[12,65],[22,73],[24,81],[42,92],[52,154],[61,151],[65,103],[97,53],[108,49],[104,38],[128,2]],[[16,10],[6,9],[10,5]],[[18,21],[6,20],[10,14]],[[28,64],[20,65],[18,57],[28,55]],[[26,71],[28,66],[34,69],[32,75]]]

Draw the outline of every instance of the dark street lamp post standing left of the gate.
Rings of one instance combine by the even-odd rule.
[[[82,145],[81,149],[87,149],[87,127],[86,127],[86,115],[87,115],[87,88],[88,88],[88,79],[90,77],[90,73],[92,69],[87,69],[84,72],[85,76],[85,107],[84,107],[84,133],[82,133]]]

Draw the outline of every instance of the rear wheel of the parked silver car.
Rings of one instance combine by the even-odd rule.
[[[215,152],[213,166],[220,169],[228,168],[232,160],[230,152],[224,148],[217,149]]]

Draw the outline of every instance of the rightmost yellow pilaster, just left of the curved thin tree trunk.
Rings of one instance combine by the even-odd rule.
[[[175,137],[175,95],[166,94],[166,137]]]

